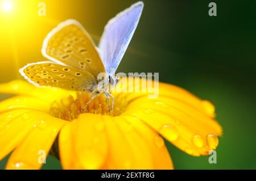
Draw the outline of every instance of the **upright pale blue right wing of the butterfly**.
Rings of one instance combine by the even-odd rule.
[[[133,37],[143,9],[137,2],[109,20],[100,40],[100,52],[106,73],[113,75]]]

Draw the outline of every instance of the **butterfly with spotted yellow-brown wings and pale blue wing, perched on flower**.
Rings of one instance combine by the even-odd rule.
[[[98,48],[88,32],[76,20],[62,22],[48,33],[43,41],[42,54],[51,61],[27,64],[20,73],[36,86],[61,87],[67,90],[87,91],[92,98],[104,93],[110,111],[114,97],[105,89],[98,89],[105,73],[104,83],[115,86],[115,71],[137,28],[143,10],[143,2],[137,2],[110,19],[104,28]],[[112,108],[110,108],[112,98]]]

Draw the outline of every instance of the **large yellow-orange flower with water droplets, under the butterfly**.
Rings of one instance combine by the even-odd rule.
[[[6,169],[40,169],[42,150],[64,169],[173,169],[163,138],[199,156],[216,149],[222,134],[211,103],[166,83],[156,99],[114,93],[113,115],[104,96],[79,115],[88,94],[75,100],[76,92],[19,80],[0,92],[15,95],[0,102],[0,160],[11,153]]]

